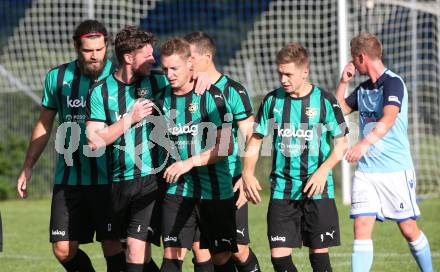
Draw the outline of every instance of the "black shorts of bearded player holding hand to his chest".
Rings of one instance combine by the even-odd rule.
[[[155,175],[114,183],[112,232],[160,246],[159,196]]]

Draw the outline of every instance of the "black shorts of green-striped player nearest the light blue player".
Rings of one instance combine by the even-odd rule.
[[[270,248],[339,246],[339,219],[334,199],[271,199],[267,211]]]

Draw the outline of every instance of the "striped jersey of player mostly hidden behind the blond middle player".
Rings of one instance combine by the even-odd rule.
[[[214,84],[219,88],[226,98],[228,108],[232,113],[232,134],[234,141],[234,152],[228,157],[229,170],[233,177],[241,175],[242,165],[239,157],[239,146],[237,142],[238,122],[252,116],[252,101],[246,89],[238,82],[226,75],[222,75]]]

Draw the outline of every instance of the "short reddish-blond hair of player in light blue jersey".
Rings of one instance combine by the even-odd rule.
[[[352,55],[366,54],[372,59],[382,58],[382,43],[371,33],[363,32],[351,39]]]

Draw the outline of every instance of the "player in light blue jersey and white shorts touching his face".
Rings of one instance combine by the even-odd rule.
[[[382,63],[382,45],[374,35],[362,33],[353,38],[351,55],[336,97],[344,114],[359,111],[360,141],[346,154],[348,162],[358,162],[350,211],[355,220],[352,271],[370,270],[374,222],[385,218],[397,222],[420,270],[432,271],[428,239],[416,223],[420,211],[407,137],[405,83]],[[345,98],[348,82],[356,70],[369,79]]]

